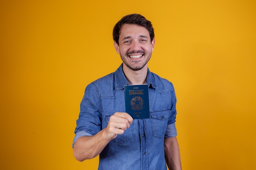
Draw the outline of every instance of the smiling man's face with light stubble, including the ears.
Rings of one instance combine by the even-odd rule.
[[[148,30],[137,24],[124,24],[119,35],[119,45],[115,49],[127,66],[133,71],[140,70],[149,61],[154,50],[155,39],[150,42]]]

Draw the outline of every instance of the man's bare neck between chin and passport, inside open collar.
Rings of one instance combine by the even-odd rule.
[[[131,85],[134,84],[146,84],[146,78],[148,74],[148,64],[138,71],[133,71],[123,64],[123,71],[126,79]]]

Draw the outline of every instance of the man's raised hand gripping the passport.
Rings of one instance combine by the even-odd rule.
[[[130,127],[132,124],[132,117],[128,113],[116,112],[109,119],[108,126],[106,127],[106,132],[110,140],[121,135],[124,131]]]

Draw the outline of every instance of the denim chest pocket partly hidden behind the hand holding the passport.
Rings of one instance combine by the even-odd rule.
[[[112,114],[106,115],[107,122],[109,122],[110,116]],[[117,143],[117,144],[124,144],[125,142],[129,141],[133,138],[133,125],[131,124],[130,127],[126,130],[124,130],[124,133],[122,135],[117,135],[115,139],[112,139],[111,142]]]

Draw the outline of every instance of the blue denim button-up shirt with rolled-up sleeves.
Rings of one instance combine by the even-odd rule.
[[[125,112],[122,64],[117,71],[85,88],[73,145],[81,136],[106,128],[111,115]],[[164,138],[175,137],[176,96],[173,84],[148,69],[150,118],[134,119],[124,134],[117,135],[99,155],[99,170],[166,170]]]

